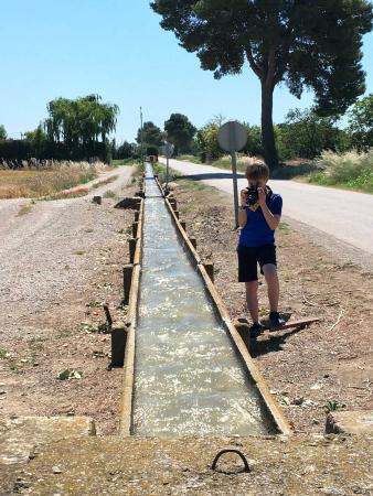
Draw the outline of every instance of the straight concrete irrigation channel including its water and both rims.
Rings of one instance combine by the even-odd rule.
[[[121,435],[289,433],[149,164],[145,196],[125,268]]]

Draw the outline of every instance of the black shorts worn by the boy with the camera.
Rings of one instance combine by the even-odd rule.
[[[251,282],[258,280],[257,265],[259,263],[260,273],[263,266],[276,262],[276,246],[264,245],[258,247],[238,246],[238,282]]]

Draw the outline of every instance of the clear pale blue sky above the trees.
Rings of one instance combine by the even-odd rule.
[[[215,80],[194,54],[163,31],[148,0],[0,0],[0,123],[11,138],[34,129],[56,97],[92,93],[120,108],[116,138],[132,141],[145,120],[163,128],[172,112],[196,127],[214,115],[259,123],[256,76]],[[364,36],[366,93],[373,91],[373,33]],[[274,120],[311,105],[275,91]]]

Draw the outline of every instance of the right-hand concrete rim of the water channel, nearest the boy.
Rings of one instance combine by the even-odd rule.
[[[228,314],[228,311],[219,294],[215,285],[213,284],[211,278],[209,277],[206,269],[204,268],[204,265],[202,263],[201,257],[199,256],[198,251],[194,249],[193,245],[191,244],[185,230],[183,229],[179,217],[175,215],[174,209],[170,203],[170,201],[166,197],[164,191],[162,186],[160,185],[158,179],[156,177],[156,182],[158,184],[158,187],[162,192],[162,195],[164,196],[164,203],[170,212],[170,215],[173,219],[174,225],[177,226],[178,234],[182,238],[184,245],[188,247],[189,256],[192,258],[192,261],[195,263],[198,271],[202,278],[202,281],[205,285],[205,289],[207,290],[207,293],[210,295],[211,302],[213,303],[214,310],[217,313],[217,316],[221,319],[223,325],[225,326],[226,331],[228,332],[228,335],[234,343],[234,346],[241,356],[242,360],[244,362],[251,379],[254,381],[254,385],[258,389],[259,396],[264,401],[264,405],[267,409],[267,412],[269,413],[273,422],[275,423],[276,428],[278,429],[280,434],[290,435],[292,434],[292,430],[290,428],[289,422],[287,421],[280,406],[277,403],[275,398],[269,391],[269,388],[265,381],[265,378],[263,377],[262,373],[259,371],[258,367],[255,365],[247,346],[243,338],[241,337],[238,331],[234,326],[232,319]]]

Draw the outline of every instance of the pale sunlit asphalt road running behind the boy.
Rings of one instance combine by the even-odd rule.
[[[160,161],[166,163],[166,159]],[[227,170],[178,160],[170,160],[170,166],[233,195]],[[283,195],[284,215],[373,255],[373,195],[295,181],[270,180],[268,184]],[[238,191],[246,186],[239,174]]]

